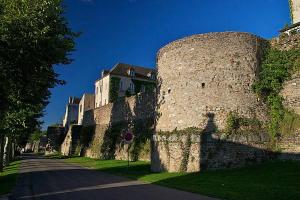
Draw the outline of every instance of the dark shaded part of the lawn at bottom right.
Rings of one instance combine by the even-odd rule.
[[[153,182],[232,200],[300,199],[300,162],[273,161],[240,169],[204,171]]]

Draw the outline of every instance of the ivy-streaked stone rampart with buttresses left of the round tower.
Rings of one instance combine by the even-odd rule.
[[[86,111],[81,130],[70,128],[61,151],[64,155],[123,160],[128,158],[129,147],[131,160],[150,160],[153,123],[154,94],[122,98]],[[121,133],[125,129],[135,135],[129,146],[122,141]]]

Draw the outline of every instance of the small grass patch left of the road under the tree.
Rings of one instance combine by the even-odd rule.
[[[3,172],[0,172],[0,196],[10,193],[15,186],[19,174],[19,166],[20,161],[15,161],[5,167]]]

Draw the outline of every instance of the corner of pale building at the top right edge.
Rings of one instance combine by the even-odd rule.
[[[288,35],[300,32],[300,0],[289,0],[292,25],[282,29],[280,32]]]

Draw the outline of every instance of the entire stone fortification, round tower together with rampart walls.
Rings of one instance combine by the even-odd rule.
[[[71,125],[64,134],[58,134],[61,128],[49,128],[50,146],[64,155],[101,159],[128,159],[129,150],[131,160],[151,160],[153,171],[192,172],[275,158],[300,160],[300,126],[280,137],[270,135],[266,128],[270,108],[253,90],[266,49],[300,48],[299,26],[283,29],[271,41],[249,33],[221,32],[171,42],[157,53],[155,92],[87,110],[80,125]],[[300,114],[298,71],[280,91],[292,116]],[[300,123],[297,117],[290,121],[291,126]],[[124,130],[133,132],[133,143],[124,143]]]

